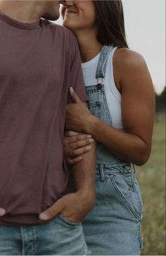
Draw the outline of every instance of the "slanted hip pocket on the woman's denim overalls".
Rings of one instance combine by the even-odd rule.
[[[136,187],[136,181],[134,180],[134,173],[110,175],[110,180],[120,201],[136,219],[141,221],[143,205],[141,192]]]

